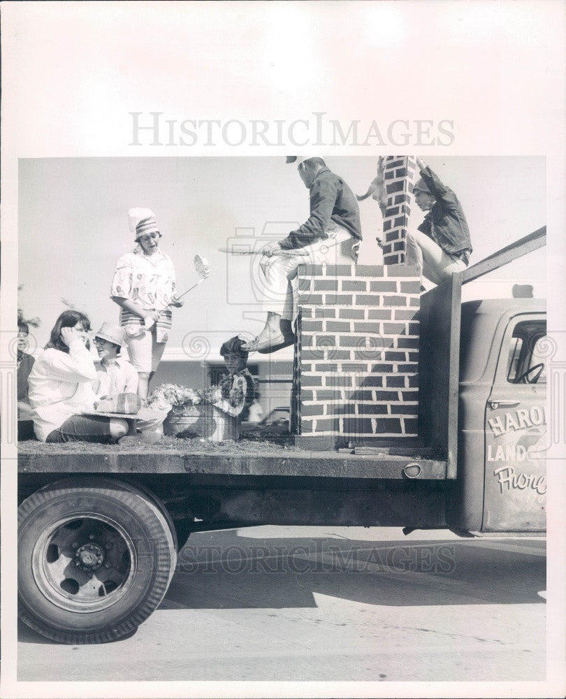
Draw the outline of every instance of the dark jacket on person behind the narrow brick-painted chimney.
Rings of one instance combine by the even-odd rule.
[[[469,258],[472,252],[470,229],[458,197],[440,182],[430,168],[421,170],[421,177],[436,201],[419,226],[419,231],[432,238],[444,252],[457,254],[467,251],[465,257]]]

